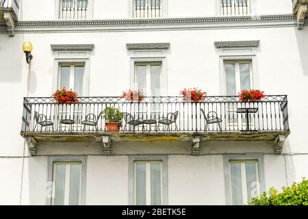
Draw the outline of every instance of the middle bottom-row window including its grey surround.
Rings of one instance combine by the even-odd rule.
[[[129,156],[129,205],[168,205],[167,156]]]

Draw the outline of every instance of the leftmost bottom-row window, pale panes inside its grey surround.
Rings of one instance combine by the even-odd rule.
[[[52,205],[79,205],[81,199],[81,162],[53,163]]]

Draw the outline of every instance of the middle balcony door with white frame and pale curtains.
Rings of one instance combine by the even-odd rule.
[[[135,62],[135,90],[142,89],[150,98],[138,109],[137,117],[142,119],[159,118],[159,99],[162,96],[162,62]],[[156,97],[156,98],[155,98]]]

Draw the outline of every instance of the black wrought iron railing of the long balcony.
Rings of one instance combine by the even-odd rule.
[[[207,96],[185,103],[181,96],[145,97],[141,102],[120,97],[80,97],[79,103],[58,105],[53,98],[25,98],[23,132],[104,132],[107,107],[123,112],[119,131],[212,132],[287,131],[287,96],[266,96],[240,103],[238,96]]]

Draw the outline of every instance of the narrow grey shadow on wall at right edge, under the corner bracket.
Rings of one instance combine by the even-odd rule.
[[[308,26],[295,32],[303,73],[308,76]]]

